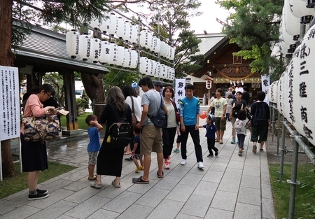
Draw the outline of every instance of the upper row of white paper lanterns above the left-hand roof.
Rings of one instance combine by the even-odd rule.
[[[90,27],[93,29],[99,29],[103,33],[117,36],[118,38],[122,38],[130,43],[138,43],[139,41],[139,44],[143,48],[159,53],[161,57],[174,60],[174,47],[168,45],[164,41],[161,41],[160,38],[154,36],[146,29],[139,32],[139,27],[137,25],[130,24],[128,20],[125,20],[123,17],[117,17],[114,13],[111,13],[109,19],[106,20],[92,20]]]

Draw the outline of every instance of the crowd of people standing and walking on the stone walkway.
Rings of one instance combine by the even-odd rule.
[[[124,155],[131,155],[125,160],[133,161],[135,173],[143,171],[139,177],[132,178],[133,183],[149,183],[151,167],[151,153],[155,152],[158,162],[158,178],[164,177],[163,169],[171,168],[170,155],[172,152],[181,152],[181,165],[187,162],[187,140],[190,134],[195,147],[197,168],[203,169],[202,147],[200,145],[200,128],[207,130],[208,157],[218,156],[216,142],[223,144],[223,135],[226,129],[226,121],[232,122],[232,141],[239,145],[239,156],[244,150],[244,139],[246,129],[251,132],[253,141],[253,153],[256,153],[257,143],[260,143],[260,152],[263,151],[264,142],[267,140],[267,129],[269,126],[268,105],[263,102],[264,92],[258,92],[258,101],[251,105],[251,115],[255,115],[264,108],[267,113],[267,121],[255,122],[250,125],[248,118],[249,94],[247,87],[241,87],[239,83],[235,90],[230,87],[223,95],[221,88],[211,94],[211,104],[207,113],[207,124],[200,125],[200,100],[194,97],[195,87],[186,84],[186,97],[179,100],[177,108],[174,102],[174,90],[172,87],[163,87],[160,81],[153,84],[150,77],[141,78],[138,83],[144,94],[140,97],[132,85],[120,87],[113,86],[106,97],[106,106],[102,115],[88,115],[85,122],[89,126],[87,133],[90,143],[87,146],[88,153],[88,181],[92,181],[92,188],[102,188],[102,175],[113,176],[111,184],[120,188],[120,176],[123,169]],[[24,114],[27,116],[41,117],[48,111],[55,112],[55,106],[43,106],[43,102],[55,94],[51,85],[44,84],[34,90],[23,102]],[[151,120],[162,108],[167,115],[167,125],[160,128]],[[261,112],[261,111],[260,111]],[[117,122],[118,117],[125,118],[130,124],[130,140],[124,147],[113,147],[111,143],[110,127]],[[132,119],[137,122],[132,123]],[[104,141],[101,140],[99,132],[106,124]],[[120,124],[120,123],[119,123]],[[116,123],[117,125],[117,123]],[[119,127],[119,125],[118,125]],[[30,142],[23,139],[24,127],[21,127],[22,141],[22,167],[28,172],[29,200],[43,199],[48,197],[47,190],[37,189],[39,171],[48,169],[45,141]],[[173,150],[176,137],[177,147]],[[102,146],[101,146],[102,145]],[[94,168],[96,165],[96,175]]]

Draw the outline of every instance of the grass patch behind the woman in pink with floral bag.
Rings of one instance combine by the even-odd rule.
[[[19,162],[16,162],[13,165],[16,175],[14,177],[3,178],[3,181],[0,182],[0,199],[28,188],[27,173],[20,173]],[[54,178],[55,176],[64,174],[72,169],[76,169],[76,167],[55,162],[48,162],[48,167],[49,169],[39,173],[38,183],[48,181],[50,178]]]

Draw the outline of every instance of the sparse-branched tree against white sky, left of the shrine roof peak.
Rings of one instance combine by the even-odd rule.
[[[200,11],[197,10],[200,6],[200,1],[178,0],[171,3],[158,1],[150,7],[151,10],[155,11],[151,17],[151,25],[157,27],[160,20],[161,35],[167,38],[169,45],[176,47],[174,58],[176,78],[181,78],[183,73],[193,73],[202,67],[198,64],[192,64],[202,61],[204,55],[196,55],[200,52],[198,45],[201,40],[195,36],[195,31],[190,30],[189,22],[191,17],[201,15]],[[167,10],[164,15],[156,13],[164,10]]]

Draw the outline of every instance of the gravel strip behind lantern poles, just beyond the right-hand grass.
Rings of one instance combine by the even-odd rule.
[[[279,150],[279,155],[276,155],[276,151],[277,151],[276,146],[277,146],[277,136],[274,134],[274,141],[272,141],[272,132],[270,131],[268,133],[268,138],[265,143],[265,147],[267,150],[267,159],[270,164],[280,163],[281,150]],[[288,150],[293,150],[293,141],[290,139],[288,135],[286,135],[285,146]],[[279,148],[281,148],[281,135],[279,139]],[[302,148],[300,148],[299,150],[302,150]],[[293,159],[292,153],[286,153],[286,155],[284,156],[285,163],[292,163],[292,159]],[[299,154],[298,162],[300,164],[307,164],[307,162],[310,162],[310,161],[307,155]]]

